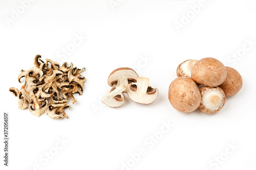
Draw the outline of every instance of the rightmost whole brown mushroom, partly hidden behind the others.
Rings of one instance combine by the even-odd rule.
[[[224,83],[220,85],[220,87],[225,92],[226,97],[228,97],[237,94],[241,90],[243,86],[243,79],[236,69],[226,67],[226,70],[227,78]]]

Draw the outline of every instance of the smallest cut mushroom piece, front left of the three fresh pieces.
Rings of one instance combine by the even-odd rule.
[[[109,107],[119,107],[124,104],[125,98],[123,91],[126,89],[126,86],[123,84],[121,86],[114,86],[108,93],[105,94],[102,98],[102,102]]]

